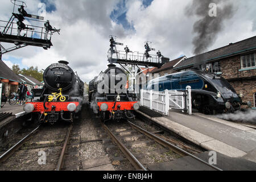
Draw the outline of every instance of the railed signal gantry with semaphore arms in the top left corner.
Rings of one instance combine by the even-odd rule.
[[[44,17],[38,15],[28,14],[24,7],[27,7],[25,2],[18,0],[11,0],[15,6],[19,6],[18,13],[14,12],[9,21],[0,20],[0,56],[4,53],[14,51],[26,46],[38,46],[44,49],[51,48],[51,35],[54,32],[59,34],[60,30],[52,28],[49,21],[44,22]],[[17,20],[15,23],[14,20]],[[36,21],[43,23],[44,26],[33,26],[24,24],[24,20]],[[22,32],[24,34],[22,35]],[[13,43],[15,46],[4,48],[1,43]]]

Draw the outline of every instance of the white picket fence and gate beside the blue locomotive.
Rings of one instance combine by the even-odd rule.
[[[191,86],[187,86],[185,91],[165,90],[164,92],[156,92],[141,90],[141,105],[164,115],[168,115],[170,109],[182,110],[191,115]]]

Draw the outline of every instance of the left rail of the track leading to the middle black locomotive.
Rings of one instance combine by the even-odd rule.
[[[126,158],[133,164],[134,168],[137,170],[143,170],[147,171],[147,169],[139,162],[137,158],[131,152],[128,150],[128,148],[120,141],[118,138],[110,131],[108,126],[106,126],[104,123],[102,123],[102,126],[108,131],[110,137],[114,140],[114,142],[118,145],[120,150],[125,154]]]

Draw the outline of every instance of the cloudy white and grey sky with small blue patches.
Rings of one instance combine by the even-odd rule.
[[[89,82],[106,69],[109,35],[132,51],[144,52],[144,42],[151,41],[171,60],[181,55],[194,55],[195,39],[200,31],[194,24],[208,16],[208,3],[203,10],[197,5],[201,0],[24,0],[26,11],[43,15],[53,27],[60,28],[60,35],[52,36],[53,47],[47,51],[40,47],[25,47],[6,53],[2,59],[11,67],[38,66],[45,69],[51,63],[68,60],[83,81]],[[226,46],[256,35],[256,1],[213,0],[217,5],[216,24],[209,22],[207,40],[212,40],[204,51]],[[226,5],[232,7],[224,15]],[[205,3],[204,3],[205,4]],[[45,11],[44,11],[45,9]],[[2,0],[1,20],[9,20],[13,4]],[[202,15],[203,12],[203,15]],[[210,20],[211,21],[211,20]],[[30,22],[26,22],[30,23]],[[216,22],[215,22],[216,23]],[[210,32],[212,29],[217,32]],[[214,29],[214,30],[215,30]],[[194,43],[194,44],[193,44]],[[11,47],[11,44],[2,44]],[[123,50],[123,47],[118,47]],[[153,52],[152,52],[153,53]]]

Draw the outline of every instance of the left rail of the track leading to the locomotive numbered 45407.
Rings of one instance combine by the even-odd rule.
[[[32,134],[34,134],[38,129],[40,125],[36,127],[31,133],[26,135],[23,139],[21,139],[18,143],[16,143],[13,147],[11,147],[9,150],[7,150],[4,154],[0,156],[0,162],[4,162],[6,159],[8,159],[16,150],[18,150],[20,147],[23,146],[23,144],[32,137]]]

